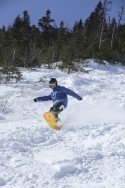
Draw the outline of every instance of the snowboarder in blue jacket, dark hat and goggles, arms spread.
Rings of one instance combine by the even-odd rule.
[[[58,85],[57,80],[55,78],[51,78],[51,80],[49,81],[49,87],[53,89],[51,94],[48,96],[37,97],[34,99],[34,102],[52,100],[53,106],[50,108],[50,112],[54,115],[56,121],[60,120],[58,114],[67,107],[68,104],[67,95],[70,95],[78,100],[82,100],[82,97],[79,96],[74,91]]]

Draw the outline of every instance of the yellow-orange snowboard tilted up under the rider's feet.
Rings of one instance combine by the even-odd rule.
[[[51,112],[45,112],[43,117],[51,128],[60,130],[60,126],[57,124],[56,119]]]

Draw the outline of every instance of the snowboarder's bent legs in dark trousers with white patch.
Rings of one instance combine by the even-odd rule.
[[[64,109],[64,105],[61,102],[54,104],[53,107],[50,108],[50,112],[52,112],[52,114],[54,115],[57,121],[58,121],[58,114],[62,112],[63,109]]]

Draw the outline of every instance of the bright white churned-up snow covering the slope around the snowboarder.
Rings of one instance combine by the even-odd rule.
[[[21,69],[21,82],[0,85],[0,187],[125,187],[125,67],[89,60],[84,68]],[[69,97],[60,131],[42,117],[52,102],[33,101],[51,92],[51,77],[83,97]]]

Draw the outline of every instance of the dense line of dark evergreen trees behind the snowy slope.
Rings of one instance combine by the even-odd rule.
[[[125,65],[125,24],[122,18],[125,4],[118,18],[110,18],[111,0],[99,1],[90,16],[76,21],[68,28],[64,21],[59,26],[51,17],[51,11],[31,25],[28,11],[17,16],[8,28],[0,28],[0,72],[19,74],[17,67],[51,68],[61,62],[59,68],[75,70],[77,62],[94,58]],[[20,74],[19,74],[20,75]]]

